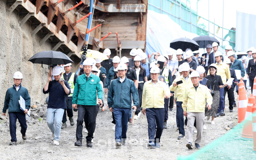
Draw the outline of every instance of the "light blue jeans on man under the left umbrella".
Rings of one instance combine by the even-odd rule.
[[[58,141],[60,139],[60,129],[62,125],[64,109],[53,109],[47,108],[47,125],[54,134],[54,140]]]

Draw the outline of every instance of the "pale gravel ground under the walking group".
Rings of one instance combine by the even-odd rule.
[[[251,90],[247,90],[249,97]],[[238,101],[237,93],[235,99]],[[238,104],[238,103],[237,103]],[[234,112],[229,112],[228,100],[226,96],[225,113],[226,116],[217,117],[215,125],[211,121],[205,121],[207,130],[203,130],[201,147],[206,146],[214,139],[224,135],[228,131],[225,129],[228,124],[237,121],[237,108]],[[178,131],[176,131],[176,108],[169,111],[168,128],[164,129],[159,149],[148,149],[146,147],[147,136],[147,119],[141,114],[139,119],[135,120],[134,125],[128,124],[127,145],[121,149],[115,149],[115,132],[112,130],[111,112],[99,111],[96,120],[96,130],[92,148],[86,147],[86,139],[83,140],[82,147],[74,146],[76,142],[76,125],[62,129],[60,132],[59,146],[53,146],[51,135],[45,118],[31,121],[28,123],[27,140],[23,141],[19,132],[20,127],[17,122],[17,146],[9,146],[10,133],[9,123],[2,120],[0,122],[0,156],[3,159],[32,159],[32,160],[52,160],[52,159],[148,159],[163,158],[176,159],[179,155],[190,155],[196,152],[196,149],[188,150],[186,148],[186,138],[178,140]],[[74,119],[77,118],[77,112],[74,112]],[[186,131],[186,130],[185,130]],[[84,137],[86,133],[83,131]],[[194,140],[196,134],[193,136]],[[193,143],[194,145],[194,143]]]

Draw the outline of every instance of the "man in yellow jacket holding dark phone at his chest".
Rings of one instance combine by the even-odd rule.
[[[189,84],[192,85],[191,79],[189,78],[190,73],[190,66],[188,63],[181,64],[181,71],[182,76],[177,77],[170,86],[170,90],[173,92],[176,92],[176,122],[179,129],[180,135],[178,136],[178,139],[183,139],[185,136],[185,130],[184,130],[184,116],[183,116],[183,109],[182,109],[182,102],[183,102],[183,94],[185,91],[186,86]],[[178,84],[177,84],[178,82]],[[181,82],[181,83],[180,83]]]

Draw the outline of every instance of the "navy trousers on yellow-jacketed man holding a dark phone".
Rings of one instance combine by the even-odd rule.
[[[178,123],[179,133],[183,136],[185,136],[185,129],[184,129],[184,115],[183,115],[183,108],[181,107],[182,102],[177,101],[176,102],[176,122]]]

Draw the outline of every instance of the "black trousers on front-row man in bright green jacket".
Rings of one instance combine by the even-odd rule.
[[[93,133],[96,126],[96,106],[85,106],[85,105],[77,105],[78,108],[78,118],[76,124],[76,140],[83,138],[83,122],[84,116],[88,119],[88,134],[86,136],[86,142],[91,141],[93,138]]]

